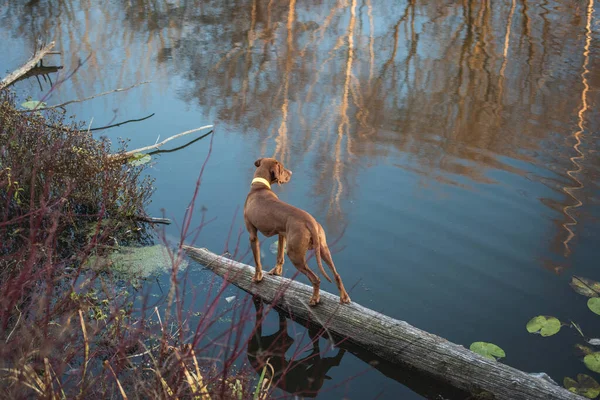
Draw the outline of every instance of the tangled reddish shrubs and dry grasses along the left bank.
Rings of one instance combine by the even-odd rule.
[[[151,153],[142,152],[171,151],[159,148],[212,126],[137,150],[127,151],[122,141],[111,153],[107,139],[94,138],[84,123],[67,118],[62,106],[45,110],[42,99],[22,104],[23,112],[7,87],[41,66],[52,45],[1,81],[3,397],[267,398],[271,380],[264,373],[256,382],[254,374],[234,368],[239,351],[215,354],[203,343],[221,317],[214,311],[216,300],[190,322],[182,308],[187,262],[149,225],[170,220],[145,213],[153,187],[144,176]],[[198,190],[192,211],[197,195]],[[182,238],[202,228],[190,229],[186,218]],[[149,264],[166,266],[171,277],[165,299],[152,304],[140,284],[154,276],[144,269]],[[211,283],[210,295],[218,299],[226,286]],[[228,311],[235,314],[242,306]],[[254,318],[248,312],[237,315],[236,324]],[[232,322],[224,337],[239,335],[236,327]]]

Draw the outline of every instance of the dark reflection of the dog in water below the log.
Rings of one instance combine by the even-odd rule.
[[[319,329],[309,328],[308,335],[312,341],[312,352],[304,358],[288,360],[285,353],[294,339],[287,333],[287,319],[279,314],[279,330],[271,335],[262,334],[263,303],[259,298],[254,298],[256,308],[256,326],[254,334],[248,342],[248,361],[252,368],[261,374],[265,363],[273,367],[273,385],[288,393],[301,397],[316,397],[323,386],[325,379],[331,379],[327,372],[332,367],[340,365],[345,350],[340,349],[335,357],[321,358],[319,350]],[[265,379],[271,378],[272,371],[267,367]]]

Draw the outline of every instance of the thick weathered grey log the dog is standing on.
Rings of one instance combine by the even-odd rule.
[[[339,297],[321,291],[312,308],[312,287],[265,274],[252,283],[254,268],[206,249],[184,246],[195,261],[217,275],[292,314],[323,326],[391,363],[411,367],[482,399],[583,399],[544,379],[482,357],[463,346],[417,329],[356,303],[340,305]],[[488,396],[488,397],[485,397]]]

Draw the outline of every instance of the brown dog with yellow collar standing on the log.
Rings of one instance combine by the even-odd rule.
[[[279,235],[277,264],[269,271],[270,275],[281,275],[283,272],[283,249],[287,242],[289,259],[313,285],[313,295],[308,304],[317,305],[320,301],[319,285],[321,280],[306,264],[306,251],[314,249],[317,265],[329,282],[331,279],[323,269],[321,257],[333,272],[335,283],[340,291],[340,302],[350,303],[350,297],[344,289],[342,278],[333,265],[323,227],[306,211],[279,200],[271,190],[272,183],[289,182],[292,171],[285,169],[283,164],[274,158],[259,158],[254,165],[256,165],[256,172],[250,186],[250,193],[246,198],[246,204],[244,204],[244,221],[250,234],[250,246],[256,263],[256,272],[252,280],[258,283],[263,279],[257,231],[267,237]]]

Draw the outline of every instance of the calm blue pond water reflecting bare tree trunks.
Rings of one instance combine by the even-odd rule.
[[[0,72],[20,65],[36,38],[55,40],[62,55],[45,64],[63,65],[63,75],[91,57],[49,104],[151,81],[68,106],[92,127],[155,113],[98,135],[135,148],[214,124],[192,225],[200,206],[217,219],[198,245],[223,251],[233,220],[233,250],[253,162],[277,157],[294,171],[280,197],[311,212],[330,241],[339,237],[334,259],[354,301],[465,347],[496,343],[503,362],[559,383],[599,379],[575,350],[584,341],[574,329],[549,338],[525,330],[533,316],[552,315],[600,337],[600,317],[568,285],[573,275],[600,280],[598,8],[11,1],[0,6]],[[16,87],[36,98],[49,82]],[[205,139],[155,159],[150,213],[181,221],[208,148]],[[263,242],[267,266],[273,240]],[[245,232],[240,243],[243,254]],[[265,324],[277,331],[277,315]],[[306,336],[296,324],[289,331]],[[433,383],[386,371],[346,352],[319,398],[437,396]]]

